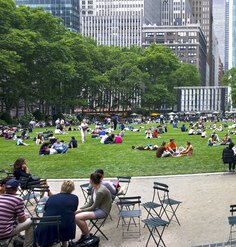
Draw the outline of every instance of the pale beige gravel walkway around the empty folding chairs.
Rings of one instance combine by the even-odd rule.
[[[63,180],[48,180],[53,193],[60,191]],[[84,198],[80,184],[88,180],[74,180],[75,194],[80,198],[80,205]],[[184,176],[161,177],[132,177],[127,195],[140,195],[142,202],[152,198],[154,181],[169,185],[171,197],[183,203],[177,211],[181,226],[172,222],[165,229],[163,238],[167,247],[196,247],[196,246],[226,246],[229,237],[229,205],[236,204],[236,175],[235,174],[200,174]],[[112,207],[111,216],[103,227],[109,240],[101,236],[103,247],[143,247],[148,238],[147,228],[141,228],[141,239],[122,239],[121,226],[116,228],[118,210]],[[143,210],[143,218],[145,211]],[[77,238],[80,230],[77,229]],[[148,246],[155,246],[151,241]]]

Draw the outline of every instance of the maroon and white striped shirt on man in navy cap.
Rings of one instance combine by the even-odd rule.
[[[18,217],[25,215],[24,202],[19,196],[0,195],[0,239],[10,237]]]

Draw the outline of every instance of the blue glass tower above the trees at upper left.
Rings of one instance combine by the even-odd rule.
[[[31,8],[41,7],[63,20],[70,31],[79,32],[79,1],[80,0],[16,0],[16,5]]]

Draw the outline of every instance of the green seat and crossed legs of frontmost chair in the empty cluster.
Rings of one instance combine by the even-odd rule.
[[[159,217],[147,218],[145,220],[142,220],[142,222],[145,224],[145,226],[147,226],[149,230],[149,237],[146,246],[148,246],[151,237],[153,238],[156,246],[160,246],[160,243],[162,243],[163,246],[166,246],[162,239],[162,235],[164,233],[165,227],[168,226],[169,222],[162,220]],[[159,230],[159,228],[161,229]],[[158,238],[158,241],[156,238]]]

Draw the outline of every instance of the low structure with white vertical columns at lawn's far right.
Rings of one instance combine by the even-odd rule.
[[[225,112],[230,107],[228,87],[177,87],[178,112]]]

